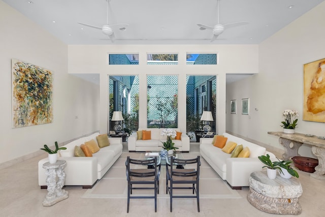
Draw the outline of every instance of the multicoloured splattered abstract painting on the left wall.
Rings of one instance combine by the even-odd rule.
[[[53,73],[12,59],[13,128],[53,121]]]

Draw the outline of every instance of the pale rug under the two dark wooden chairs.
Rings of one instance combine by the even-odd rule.
[[[199,153],[180,153],[184,159],[195,158]],[[121,157],[115,162],[113,167],[104,175],[101,180],[88,189],[82,198],[127,198],[127,181],[125,174],[126,157],[143,159],[144,153],[123,152]],[[236,190],[232,190],[229,185],[220,179],[208,163],[201,159],[200,174],[200,198],[234,199],[242,198]],[[191,194],[191,190],[179,190],[180,194]],[[174,192],[175,194],[177,192]],[[133,191],[133,195],[153,195],[153,190]],[[166,194],[166,167],[161,166],[159,178],[158,198],[169,198]]]

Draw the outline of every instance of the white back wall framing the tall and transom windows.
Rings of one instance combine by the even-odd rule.
[[[139,127],[147,125],[147,75],[178,75],[179,125],[186,132],[186,75],[217,75],[218,133],[225,132],[225,74],[257,73],[257,45],[69,45],[69,73],[100,74],[100,130],[108,132],[108,75],[139,75]],[[178,53],[178,65],[147,65],[147,53]],[[214,52],[218,65],[186,65],[186,52]],[[139,65],[108,65],[108,53],[139,53]]]

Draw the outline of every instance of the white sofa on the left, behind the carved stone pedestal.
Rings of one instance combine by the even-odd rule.
[[[98,135],[99,133],[94,133],[62,146],[67,149],[60,150],[57,159],[67,161],[67,166],[64,168],[66,173],[64,185],[82,185],[83,188],[92,188],[121,156],[122,138],[109,138],[110,145],[100,148],[98,152],[92,154],[92,157],[74,157],[76,145],[80,146],[91,139],[97,142],[96,136]],[[46,188],[46,175],[45,169],[43,169],[43,164],[46,162],[48,162],[48,158],[39,161],[39,185],[41,188]]]

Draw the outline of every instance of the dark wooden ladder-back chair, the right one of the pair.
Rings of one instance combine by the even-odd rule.
[[[197,164],[196,169],[186,169],[188,164]],[[176,159],[172,157],[170,162],[166,164],[166,194],[169,193],[170,195],[171,211],[173,198],[197,198],[198,212],[200,212],[200,164],[200,156],[194,159]],[[185,169],[174,168],[179,165],[182,165]],[[173,190],[176,189],[192,190],[193,195],[174,195]]]

